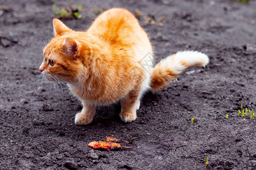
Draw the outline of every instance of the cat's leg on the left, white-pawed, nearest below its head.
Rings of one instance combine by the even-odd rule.
[[[95,105],[88,104],[85,101],[82,101],[82,111],[76,114],[75,124],[76,125],[87,125],[92,122],[95,115]]]

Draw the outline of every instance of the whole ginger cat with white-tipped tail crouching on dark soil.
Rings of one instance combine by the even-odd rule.
[[[75,123],[92,122],[96,105],[121,101],[122,121],[137,117],[140,98],[147,90],[159,90],[184,69],[205,66],[200,52],[177,52],[155,67],[153,50],[145,31],[133,14],[123,8],[103,12],[87,31],[73,31],[53,19],[55,37],[44,48],[39,70],[48,79],[69,85],[83,105]]]

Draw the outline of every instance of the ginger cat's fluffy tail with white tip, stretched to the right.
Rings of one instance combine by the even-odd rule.
[[[153,69],[151,91],[159,90],[175,79],[182,71],[191,66],[205,66],[209,63],[206,54],[195,51],[184,51],[162,59]]]

